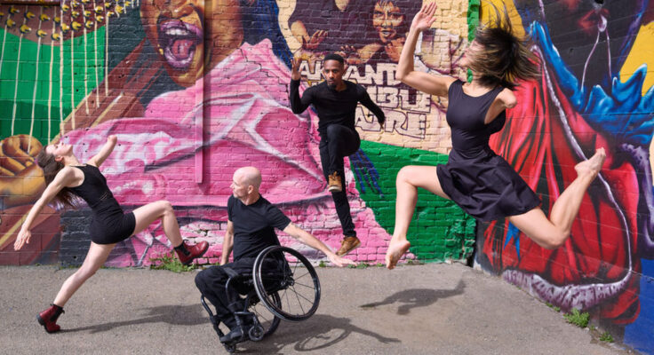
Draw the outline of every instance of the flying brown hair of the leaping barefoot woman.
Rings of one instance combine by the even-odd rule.
[[[475,42],[483,50],[473,53],[469,68],[481,75],[479,81],[484,86],[514,90],[519,79],[538,78],[539,60],[529,49],[530,37],[514,35],[506,5],[502,12],[494,4],[491,7],[495,10],[495,19],[475,31]]]

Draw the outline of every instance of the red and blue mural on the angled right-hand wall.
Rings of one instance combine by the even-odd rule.
[[[539,194],[546,213],[577,176],[575,164],[596,147],[610,153],[562,248],[539,248],[498,221],[481,228],[477,260],[546,302],[592,312],[624,331],[642,317],[640,304],[651,297],[639,292],[642,263],[654,257],[654,87],[645,84],[648,67],[642,62],[630,73],[621,69],[632,51],[651,51],[651,32],[644,48],[634,48],[634,39],[650,23],[652,5],[505,3],[531,36],[542,77],[516,91],[519,104],[507,112],[506,127],[491,138],[491,147]]]

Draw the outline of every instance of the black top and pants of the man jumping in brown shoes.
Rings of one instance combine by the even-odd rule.
[[[309,105],[313,105],[318,113],[318,133],[320,133],[320,162],[323,166],[325,179],[336,171],[341,179],[342,191],[331,193],[336,213],[339,215],[343,234],[356,236],[355,224],[350,215],[350,204],[347,201],[345,184],[345,168],[343,158],[355,154],[361,146],[361,138],[355,129],[356,106],[359,102],[375,114],[379,122],[384,122],[386,116],[379,108],[368,91],[363,86],[344,81],[346,90],[336,91],[326,82],[319,83],[304,91],[299,97],[299,80],[291,80],[289,99],[294,114],[301,114]]]

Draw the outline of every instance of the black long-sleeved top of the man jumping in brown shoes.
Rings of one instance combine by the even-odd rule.
[[[313,105],[318,112],[318,132],[321,135],[324,135],[327,126],[334,123],[355,130],[355,113],[359,102],[371,110],[378,120],[386,118],[384,111],[372,102],[363,86],[347,80],[343,83],[346,84],[344,91],[332,89],[327,82],[319,83],[304,91],[300,99],[299,80],[291,80],[289,99],[293,114],[301,114],[309,105]]]

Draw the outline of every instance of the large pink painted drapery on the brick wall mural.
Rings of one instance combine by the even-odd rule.
[[[256,45],[245,43],[200,79],[204,87],[198,84],[164,93],[150,102],[145,117],[72,131],[68,141],[75,145],[76,155],[86,160],[109,134],[116,134],[118,145],[102,170],[121,204],[138,207],[168,200],[178,217],[213,223],[227,220],[225,209],[234,171],[245,165],[256,166],[262,172],[261,189],[268,201],[282,204],[293,222],[331,248],[339,248],[342,232],[331,194],[325,190],[317,117],[310,110],[301,115],[291,112],[287,91],[290,79],[288,67],[275,57],[268,40]],[[195,106],[195,96],[202,87],[209,93],[203,100],[204,108]],[[202,109],[210,118],[204,122],[207,157],[203,182],[197,184],[195,155],[201,147],[196,143],[194,120],[195,111]],[[352,256],[361,261],[383,261],[390,235],[359,198],[349,170],[346,184],[361,250],[365,250]],[[153,225],[147,232],[161,234],[157,227]],[[146,247],[152,244],[148,233],[140,233],[138,238],[143,241],[133,244],[142,246],[139,252],[152,254],[153,247]],[[184,236],[196,235],[188,234]],[[165,242],[164,238],[157,240]],[[218,257],[221,238],[203,240],[211,243],[206,257]],[[288,237],[282,240],[293,248],[307,248]],[[371,248],[377,254],[371,254]],[[149,257],[142,264],[149,264]],[[121,261],[116,266],[124,264]]]

